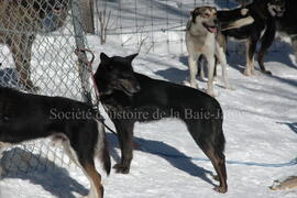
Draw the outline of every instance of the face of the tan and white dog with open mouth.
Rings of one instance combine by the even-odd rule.
[[[210,33],[218,31],[219,21],[217,19],[217,9],[215,7],[198,7],[190,12],[191,21],[197,29]]]

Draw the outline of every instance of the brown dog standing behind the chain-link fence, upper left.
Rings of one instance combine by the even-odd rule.
[[[1,0],[0,44],[6,44],[13,57],[20,82],[26,90],[35,89],[31,80],[32,45],[41,29],[55,31],[63,26],[69,0]],[[44,20],[51,15],[51,28]]]

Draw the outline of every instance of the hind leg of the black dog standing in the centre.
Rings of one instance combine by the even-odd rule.
[[[218,180],[220,185],[215,188],[219,193],[227,193],[227,170],[226,170],[226,157],[224,150],[224,136],[221,129],[221,124],[210,128],[199,128],[195,123],[187,123],[188,130],[194,138],[198,146],[204,151],[207,157],[211,161],[213,168],[218,174]],[[204,131],[198,131],[204,130]],[[217,131],[215,131],[217,130]],[[215,136],[213,136],[215,135]]]

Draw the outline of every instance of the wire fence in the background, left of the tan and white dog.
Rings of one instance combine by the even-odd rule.
[[[185,54],[185,29],[194,8],[227,9],[249,2],[251,0],[96,0],[96,34],[102,37],[101,43],[116,42],[143,53]],[[237,53],[243,53],[244,48],[229,46],[230,52]]]

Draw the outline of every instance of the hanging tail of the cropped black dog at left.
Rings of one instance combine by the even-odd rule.
[[[97,121],[97,127],[98,127],[98,143],[97,143],[98,157],[102,163],[102,166],[107,175],[109,175],[111,169],[111,162],[108,150],[108,141],[106,138],[106,130],[100,121]]]

